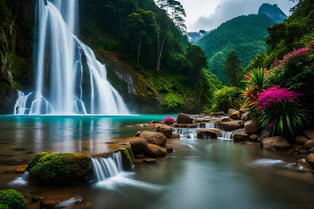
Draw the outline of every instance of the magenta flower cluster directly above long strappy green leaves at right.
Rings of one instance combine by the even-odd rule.
[[[295,102],[301,96],[303,96],[302,93],[296,93],[294,91],[289,91],[287,88],[274,86],[260,93],[258,98],[258,110],[268,109],[271,104],[277,104],[284,101]]]

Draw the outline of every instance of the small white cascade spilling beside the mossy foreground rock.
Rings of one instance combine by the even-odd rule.
[[[121,152],[114,152],[110,157],[90,157],[93,177],[96,181],[103,181],[109,177],[117,176],[123,171]]]

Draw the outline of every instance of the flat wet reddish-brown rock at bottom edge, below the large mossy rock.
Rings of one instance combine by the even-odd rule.
[[[83,198],[74,194],[56,194],[43,198],[40,202],[41,208],[66,207],[75,202],[81,202]]]

